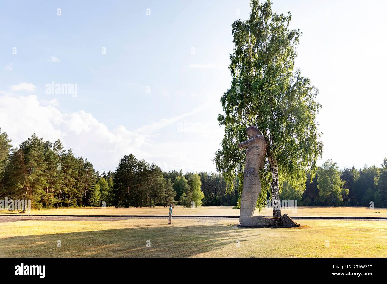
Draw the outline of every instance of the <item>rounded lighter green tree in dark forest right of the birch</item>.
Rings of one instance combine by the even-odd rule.
[[[342,186],[339,169],[336,163],[327,160],[322,167],[317,170],[317,188],[319,198],[324,205],[339,206],[342,204]]]

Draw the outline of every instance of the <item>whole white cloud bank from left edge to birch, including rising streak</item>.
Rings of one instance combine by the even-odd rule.
[[[214,151],[223,135],[216,123],[196,127],[204,124],[201,113],[211,107],[210,103],[132,132],[122,125],[108,128],[83,110],[62,113],[57,99],[38,100],[36,95],[17,97],[0,92],[0,102],[0,127],[13,146],[19,146],[33,133],[45,140],[60,139],[66,150],[71,147],[76,156],[88,158],[99,171],[114,170],[120,158],[130,153],[166,171],[214,170]],[[161,135],[155,133],[161,128]]]

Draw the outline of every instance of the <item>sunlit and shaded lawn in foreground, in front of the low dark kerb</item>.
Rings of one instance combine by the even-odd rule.
[[[387,256],[386,221],[300,220],[300,228],[271,229],[224,219],[14,220],[0,222],[0,257]]]

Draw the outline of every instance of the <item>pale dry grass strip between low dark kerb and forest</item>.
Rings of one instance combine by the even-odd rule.
[[[19,214],[20,211],[0,211],[1,214]],[[386,208],[368,207],[298,207],[296,211],[282,210],[282,214],[287,213],[289,216],[350,216],[350,217],[387,217]],[[154,208],[71,208],[71,209],[43,209],[32,210],[25,214],[42,214],[42,215],[160,215],[168,216],[168,208],[156,206]],[[25,215],[23,214],[23,215]],[[201,206],[197,208],[186,208],[175,206],[173,214],[177,215],[209,215],[209,216],[239,216],[239,209],[233,209],[231,206]],[[261,212],[255,211],[254,215],[273,216],[271,208],[264,208]]]

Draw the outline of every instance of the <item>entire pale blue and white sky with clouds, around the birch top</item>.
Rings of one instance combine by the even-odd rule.
[[[0,127],[18,146],[60,139],[94,168],[123,155],[215,171],[231,82],[231,25],[248,0],[0,2]],[[319,88],[322,159],[387,156],[385,1],[273,0],[303,36],[296,67]],[[68,90],[55,92],[51,84]]]

